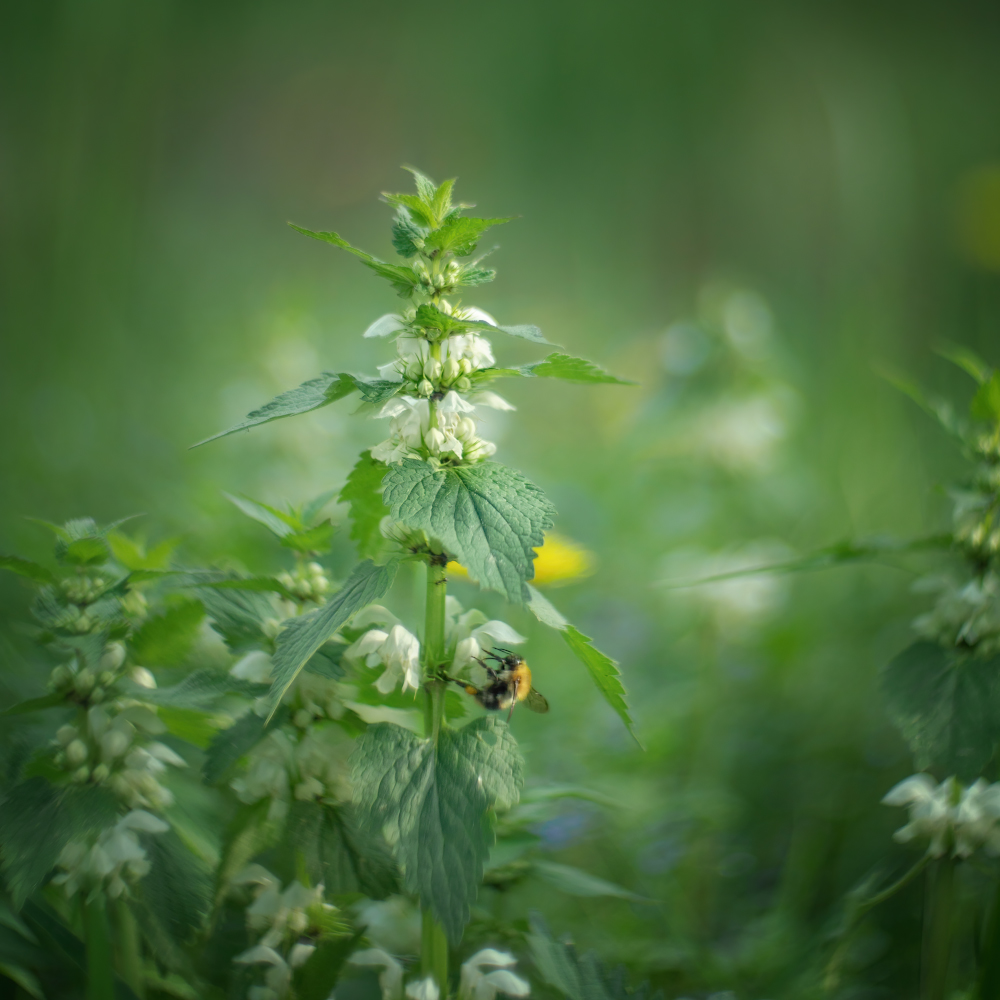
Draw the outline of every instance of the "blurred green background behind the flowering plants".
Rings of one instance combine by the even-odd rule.
[[[337,487],[382,427],[341,403],[187,446],[322,369],[372,371],[385,345],[360,333],[397,304],[285,222],[390,256],[377,195],[408,185],[399,164],[458,175],[484,214],[523,216],[467,304],[640,382],[504,386],[519,410],[486,436],[596,553],[549,596],[621,661],[646,747],[532,630],[553,712],[515,720],[531,780],[621,803],[567,807],[543,836],[656,902],[527,888],[504,906],[668,996],[808,995],[841,894],[909,856],[878,805],[911,765],[876,672],[923,606],[920,567],[662,582],[945,526],[960,463],[877,371],[964,399],[933,346],[1000,360],[1000,10],[75,0],[0,18],[2,548],[47,551],[24,515],[144,512],[187,560],[273,566],[221,491]],[[349,559],[339,543],[335,570]],[[27,592],[0,585],[13,669]],[[850,995],[907,994],[918,917],[904,896],[871,923]]]

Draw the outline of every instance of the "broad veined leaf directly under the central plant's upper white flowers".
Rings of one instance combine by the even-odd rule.
[[[537,486],[496,462],[434,469],[414,459],[391,466],[383,482],[395,520],[437,538],[480,586],[527,600],[534,550],[556,512]]]

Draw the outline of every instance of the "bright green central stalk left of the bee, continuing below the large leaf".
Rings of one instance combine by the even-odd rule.
[[[445,567],[427,564],[427,608],[424,619],[424,735],[437,745],[444,725],[445,682],[436,673],[444,659],[444,606],[448,584]],[[441,996],[448,995],[448,938],[430,910],[421,915],[420,962],[424,976],[432,976]]]

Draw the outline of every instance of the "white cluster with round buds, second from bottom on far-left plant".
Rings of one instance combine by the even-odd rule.
[[[173,795],[159,776],[168,764],[187,766],[165,743],[149,739],[165,731],[156,713],[140,702],[93,705],[80,724],[60,727],[54,762],[75,782],[107,784],[130,809],[165,809]]]

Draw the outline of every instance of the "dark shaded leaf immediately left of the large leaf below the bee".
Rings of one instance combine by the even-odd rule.
[[[331,895],[360,892],[385,899],[399,891],[399,872],[388,845],[381,836],[362,834],[350,806],[295,802],[286,837],[312,883],[322,883]]]

